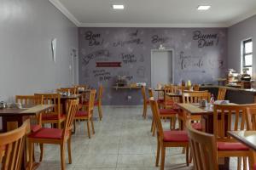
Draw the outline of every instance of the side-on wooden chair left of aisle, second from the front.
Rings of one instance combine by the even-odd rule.
[[[96,97],[96,90],[93,89],[90,91],[90,99],[89,99],[89,105],[87,107],[87,111],[77,111],[74,117],[75,123],[76,123],[76,120],[87,121],[87,131],[88,131],[89,139],[90,139],[90,123],[91,123],[92,133],[93,134],[95,133],[94,124],[92,120],[95,97]],[[85,125],[84,125],[84,128],[85,128]]]

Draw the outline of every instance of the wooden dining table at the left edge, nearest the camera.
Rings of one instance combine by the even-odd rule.
[[[55,105],[22,105],[22,108],[5,108],[0,109],[0,116],[3,122],[3,132],[8,130],[8,122],[17,122],[20,127],[28,116],[37,116],[39,113],[48,111]]]

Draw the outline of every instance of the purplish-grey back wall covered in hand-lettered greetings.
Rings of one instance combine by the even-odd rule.
[[[216,83],[225,74],[225,28],[79,28],[79,82],[102,84],[104,105],[140,105],[141,91],[112,86],[119,75],[150,86],[151,50],[160,44],[174,51],[175,83]]]

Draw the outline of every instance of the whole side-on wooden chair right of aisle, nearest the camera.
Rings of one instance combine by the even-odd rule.
[[[165,157],[166,157],[166,148],[167,147],[185,147],[186,148],[186,162],[189,166],[189,138],[186,131],[183,130],[168,130],[164,131],[161,121],[160,121],[160,112],[158,109],[157,102],[154,101],[154,98],[150,98],[151,110],[154,116],[154,123],[157,131],[157,154],[155,166],[158,167],[160,153],[160,170],[163,170],[165,167]]]

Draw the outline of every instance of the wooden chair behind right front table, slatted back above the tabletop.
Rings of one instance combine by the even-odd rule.
[[[207,91],[183,91],[183,103],[198,103],[201,99],[206,99],[208,102],[210,101],[211,94]],[[184,128],[184,122],[187,121],[186,112],[180,111],[178,113],[179,127]],[[201,130],[201,116],[189,116],[191,120],[193,120],[192,127],[196,130]]]

